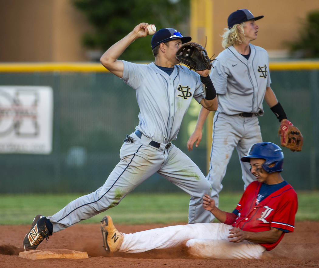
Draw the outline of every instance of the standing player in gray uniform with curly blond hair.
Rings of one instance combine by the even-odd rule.
[[[223,187],[221,182],[234,148],[241,159],[253,143],[262,141],[258,116],[264,113],[263,100],[279,121],[287,119],[270,87],[268,53],[250,44],[257,38],[259,27],[256,20],[261,18],[263,16],[254,17],[247,9],[229,15],[228,29],[225,29],[222,40],[225,50],[216,57],[210,73],[218,94],[218,109],[213,118],[207,180],[212,185],[211,197],[216,206]],[[197,141],[197,147],[201,141],[202,128],[209,112],[201,108],[195,131],[187,142],[188,150],[193,149],[194,142]],[[249,168],[249,163],[241,162],[244,189],[255,180]]]

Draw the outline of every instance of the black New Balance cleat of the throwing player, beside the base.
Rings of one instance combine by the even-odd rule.
[[[30,231],[26,234],[23,239],[23,249],[26,250],[35,250],[38,245],[44,240],[48,240],[50,234],[48,228],[45,225],[47,218],[42,215],[36,215]]]

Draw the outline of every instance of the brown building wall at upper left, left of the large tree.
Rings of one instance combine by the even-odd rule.
[[[0,0],[0,62],[88,61],[90,30],[71,0]]]

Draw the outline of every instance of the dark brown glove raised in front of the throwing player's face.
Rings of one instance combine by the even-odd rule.
[[[205,48],[194,42],[182,44],[176,52],[176,59],[194,71],[210,70],[213,61],[208,57]]]

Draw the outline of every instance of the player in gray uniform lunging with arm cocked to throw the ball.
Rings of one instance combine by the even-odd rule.
[[[210,221],[210,214],[202,207],[202,196],[211,194],[211,185],[196,164],[171,141],[176,139],[191,98],[214,111],[218,105],[216,91],[208,69],[196,73],[176,65],[176,51],[191,37],[183,37],[173,28],[160,29],[153,35],[155,62],[135,64],[118,60],[133,41],[147,36],[147,26],[148,23],[135,26],[100,59],[105,68],[135,89],[140,108],[139,124],[126,135],[120,162],[95,192],[71,201],[53,216],[37,215],[23,240],[24,250],[34,250],[48,235],[118,205],[155,172],[191,196],[189,223]]]

